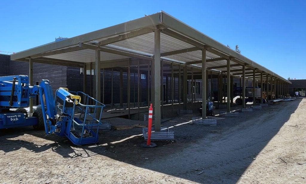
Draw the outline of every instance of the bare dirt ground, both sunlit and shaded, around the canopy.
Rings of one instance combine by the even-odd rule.
[[[199,114],[177,116],[162,123],[175,140],[153,149],[140,147],[141,128],[100,132],[84,146],[31,127],[1,130],[0,183],[306,183],[305,114],[297,99],[210,127],[186,123]]]

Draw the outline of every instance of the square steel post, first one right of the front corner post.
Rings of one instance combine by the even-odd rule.
[[[206,119],[206,50],[202,49],[202,118]]]

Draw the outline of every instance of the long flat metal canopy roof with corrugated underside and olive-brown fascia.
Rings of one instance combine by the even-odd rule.
[[[58,42],[48,43],[11,55],[11,60],[83,67],[95,62],[95,49],[101,50],[101,64],[128,58],[153,60],[154,30],[161,29],[161,60],[201,68],[202,49],[207,49],[207,69],[241,76],[242,65],[291,84],[290,81],[233,51],[216,40],[161,11]],[[234,70],[234,72],[232,72]],[[246,76],[252,78],[250,76]]]

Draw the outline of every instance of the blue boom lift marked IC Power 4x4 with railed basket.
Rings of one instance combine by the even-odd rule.
[[[24,108],[36,95],[41,108],[28,117]],[[84,104],[79,95],[84,96]],[[30,86],[25,75],[0,77],[0,129],[32,125],[36,130],[45,129],[46,134],[66,136],[75,145],[92,144],[98,142],[103,107],[87,94],[67,88],[59,88],[53,97],[48,80]]]

